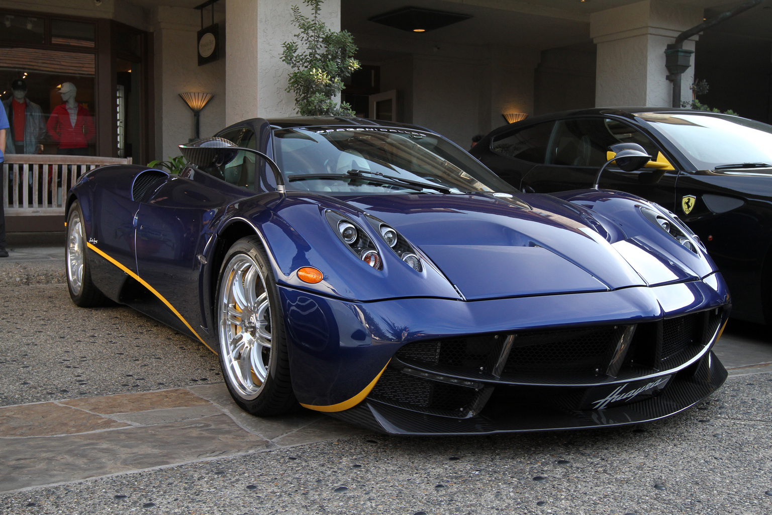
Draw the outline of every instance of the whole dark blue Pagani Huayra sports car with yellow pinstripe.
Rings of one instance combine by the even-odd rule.
[[[357,118],[245,120],[181,150],[178,175],[107,166],[69,191],[69,293],[201,341],[247,412],[575,429],[726,378],[726,284],[652,202],[520,193],[432,131]]]

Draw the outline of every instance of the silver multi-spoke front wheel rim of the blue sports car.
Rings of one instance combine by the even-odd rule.
[[[256,398],[271,360],[271,310],[265,278],[252,257],[236,254],[222,273],[218,299],[220,351],[239,396]]]

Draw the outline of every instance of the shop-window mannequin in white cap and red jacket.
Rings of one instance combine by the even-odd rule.
[[[63,103],[54,107],[46,124],[48,133],[59,143],[56,154],[88,155],[89,142],[97,134],[89,110],[75,100],[77,91],[73,83],[59,86]]]

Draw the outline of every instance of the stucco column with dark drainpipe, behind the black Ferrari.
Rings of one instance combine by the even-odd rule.
[[[590,15],[598,45],[595,105],[669,107],[672,83],[665,78],[665,48],[675,36],[703,22],[703,9],[665,0],[644,0]],[[694,50],[696,38],[683,48]],[[682,76],[683,100],[692,98],[692,67]]]

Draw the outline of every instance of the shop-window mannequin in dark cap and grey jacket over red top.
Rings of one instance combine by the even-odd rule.
[[[11,125],[5,137],[5,154],[42,154],[40,140],[46,134],[46,120],[42,110],[38,104],[26,98],[25,80],[14,80],[11,90],[13,97],[3,102]]]

